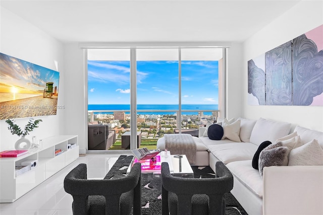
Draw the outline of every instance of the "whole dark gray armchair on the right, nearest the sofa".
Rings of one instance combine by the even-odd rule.
[[[232,190],[233,176],[222,162],[216,163],[216,170],[216,178],[179,178],[162,163],[162,214],[225,214],[224,194]]]

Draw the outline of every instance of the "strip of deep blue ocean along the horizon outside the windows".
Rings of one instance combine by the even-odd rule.
[[[99,110],[130,110],[130,105],[88,105],[88,110],[93,110],[94,113],[99,113]],[[98,110],[98,112],[96,112]],[[178,105],[156,105],[156,104],[138,104],[137,110],[170,110],[170,112],[138,112],[138,114],[174,114],[174,110],[178,110]],[[191,110],[192,112],[184,112],[187,115],[197,115],[199,110],[218,110],[218,105],[206,105],[206,104],[182,104],[182,110]],[[106,112],[105,112],[106,113]],[[107,112],[112,113],[112,112]],[[125,111],[126,114],[129,111]],[[211,115],[211,112],[204,112],[204,115]]]

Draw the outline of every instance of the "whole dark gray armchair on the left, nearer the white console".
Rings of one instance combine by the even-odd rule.
[[[141,165],[134,164],[122,178],[87,179],[86,164],[79,164],[64,180],[73,196],[73,214],[141,214]]]

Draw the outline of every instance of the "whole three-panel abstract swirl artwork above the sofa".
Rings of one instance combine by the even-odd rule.
[[[323,25],[248,61],[248,104],[323,106]]]

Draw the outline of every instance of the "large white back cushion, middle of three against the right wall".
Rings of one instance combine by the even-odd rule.
[[[276,139],[286,136],[290,131],[291,124],[260,118],[255,123],[250,142],[259,146],[263,141],[275,142]]]

